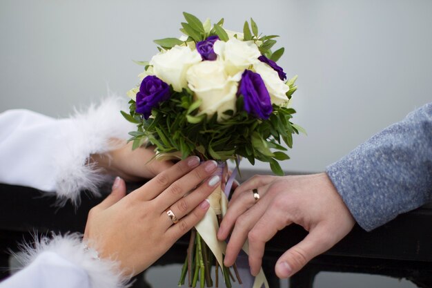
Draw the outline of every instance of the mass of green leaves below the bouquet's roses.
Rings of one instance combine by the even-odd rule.
[[[293,84],[291,84],[293,85]],[[203,160],[236,160],[233,155],[246,157],[251,164],[255,159],[269,162],[271,170],[277,175],[283,171],[277,160],[287,160],[282,151],[281,139],[289,148],[293,147],[293,134],[302,131],[300,126],[291,122],[295,113],[293,108],[273,105],[269,119],[251,117],[243,110],[243,97],[237,98],[237,113],[224,122],[217,122],[217,113],[210,119],[206,115],[195,116],[199,101],[193,99],[193,93],[184,89],[174,92],[170,101],[153,108],[149,119],[143,119],[135,113],[135,101],[130,100],[130,114],[122,114],[130,122],[137,124],[137,131],[130,132],[133,148],[137,148],[148,139],[157,146],[160,153],[181,151],[182,158],[199,155]],[[274,148],[276,152],[272,152]]]

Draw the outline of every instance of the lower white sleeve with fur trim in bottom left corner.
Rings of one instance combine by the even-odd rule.
[[[43,238],[18,254],[26,267],[0,283],[0,288],[124,288],[116,262],[96,260],[77,234]]]

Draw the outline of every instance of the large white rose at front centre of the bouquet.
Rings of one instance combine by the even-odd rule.
[[[226,74],[222,61],[202,61],[191,66],[186,73],[188,86],[197,99],[202,99],[199,114],[206,113],[210,118],[217,112],[217,120],[228,119],[224,111],[235,112],[237,86],[241,75],[230,77]]]

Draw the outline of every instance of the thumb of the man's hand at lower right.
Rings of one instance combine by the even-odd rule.
[[[328,232],[311,231],[302,242],[288,249],[277,260],[275,267],[277,277],[288,278],[293,276],[312,258],[333,247],[335,242],[331,242],[329,238]]]

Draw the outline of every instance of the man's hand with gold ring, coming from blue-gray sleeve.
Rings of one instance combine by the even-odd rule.
[[[259,193],[257,202],[252,189]],[[266,242],[292,223],[309,233],[277,260],[275,271],[279,278],[292,276],[312,258],[333,247],[351,231],[355,220],[325,173],[254,176],[235,190],[220,225],[219,240],[225,240],[232,231],[224,264],[234,264],[248,239],[249,264],[256,276]]]

